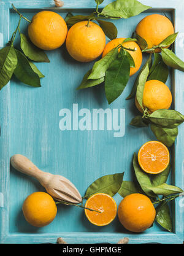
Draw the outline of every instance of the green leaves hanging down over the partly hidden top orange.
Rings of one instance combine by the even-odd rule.
[[[93,68],[85,74],[77,89],[93,87],[104,82],[105,96],[110,104],[125,89],[130,68],[134,66],[134,60],[129,52],[122,45],[118,45],[94,63]]]

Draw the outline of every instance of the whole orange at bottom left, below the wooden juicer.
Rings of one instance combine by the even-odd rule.
[[[23,214],[29,224],[44,227],[56,217],[57,208],[52,196],[45,192],[29,195],[22,206]]]

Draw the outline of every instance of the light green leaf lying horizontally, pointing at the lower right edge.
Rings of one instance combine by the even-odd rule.
[[[166,183],[163,183],[156,187],[150,186],[150,187],[148,187],[148,189],[152,190],[156,195],[163,195],[163,196],[169,196],[172,194],[177,194],[177,193],[183,192],[182,188],[168,185]]]

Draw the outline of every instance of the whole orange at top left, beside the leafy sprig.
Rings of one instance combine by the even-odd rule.
[[[28,34],[31,42],[37,47],[43,50],[54,50],[64,43],[67,25],[59,14],[43,10],[33,16],[28,26]]]

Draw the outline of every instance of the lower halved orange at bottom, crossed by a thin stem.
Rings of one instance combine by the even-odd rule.
[[[91,196],[85,204],[85,214],[88,220],[96,226],[105,226],[112,222],[117,215],[117,204],[112,196],[105,193],[96,193]]]

